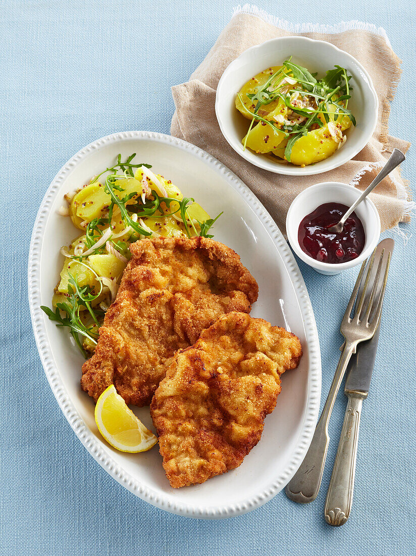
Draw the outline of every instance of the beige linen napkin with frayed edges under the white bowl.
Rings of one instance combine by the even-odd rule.
[[[215,117],[215,89],[228,64],[255,44],[294,34],[328,41],[357,58],[370,73],[380,104],[378,125],[368,145],[352,161],[316,176],[282,176],[253,166],[228,145]],[[237,174],[285,234],[288,208],[300,191],[321,181],[340,181],[363,189],[394,147],[403,152],[408,150],[410,143],[388,133],[389,103],[399,78],[400,60],[383,29],[358,22],[335,27],[292,26],[246,5],[236,8],[231,21],[190,80],[172,87],[176,112],[171,134],[211,153]],[[398,170],[390,176],[380,183],[377,193],[371,195],[380,214],[382,230],[397,226],[399,222],[409,222],[414,206],[407,180]]]

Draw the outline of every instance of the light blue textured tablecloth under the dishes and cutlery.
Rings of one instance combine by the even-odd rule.
[[[53,176],[92,140],[121,130],[169,132],[169,87],[186,81],[235,0],[3,0],[0,3],[1,349],[0,554],[332,555],[416,553],[415,242],[397,237],[372,389],[364,403],[352,515],[334,529],[323,504],[345,399],[319,497],[280,493],[219,522],[177,517],[134,497],[69,427],[43,373],[27,302],[37,208]],[[297,0],[260,7],[290,21],[360,19],[383,26],[403,59],[390,131],[415,142],[414,2]],[[410,115],[410,117],[409,117]],[[414,153],[403,165],[414,184]],[[404,226],[412,232],[415,224]],[[340,316],[357,270],[334,277],[303,264],[322,349],[326,396],[341,343]]]

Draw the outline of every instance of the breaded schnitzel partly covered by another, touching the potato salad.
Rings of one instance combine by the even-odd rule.
[[[158,237],[132,258],[82,367],[92,398],[114,384],[127,404],[147,405],[180,348],[229,311],[250,312],[258,286],[229,247],[205,237]]]

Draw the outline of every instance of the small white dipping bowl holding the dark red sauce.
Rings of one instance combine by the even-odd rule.
[[[320,274],[339,274],[339,272],[351,269],[353,266],[361,264],[364,259],[367,259],[378,244],[381,230],[380,216],[373,201],[370,201],[368,197],[358,205],[354,212],[361,220],[364,227],[364,249],[356,259],[348,262],[340,262],[339,264],[317,261],[301,249],[298,241],[300,222],[306,215],[313,212],[320,205],[323,205],[323,203],[342,203],[350,207],[361,193],[362,192],[357,188],[347,185],[346,183],[335,181],[315,183],[315,185],[299,193],[299,195],[294,198],[292,205],[290,205],[286,217],[286,231],[290,246],[292,246],[293,251],[298,255],[299,259],[302,259],[303,262],[312,266],[312,268],[320,272]]]

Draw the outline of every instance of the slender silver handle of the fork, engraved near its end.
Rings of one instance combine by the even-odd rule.
[[[327,459],[329,418],[332,413],[335,398],[337,398],[339,387],[344,378],[345,369],[347,369],[348,361],[356,345],[356,342],[345,342],[344,344],[344,349],[339,358],[337,370],[335,371],[329,389],[328,398],[327,401],[325,401],[324,409],[320,415],[309,450],[299,469],[285,488],[287,496],[294,502],[307,504],[318,496],[322,475],[324,473],[325,460]]]

